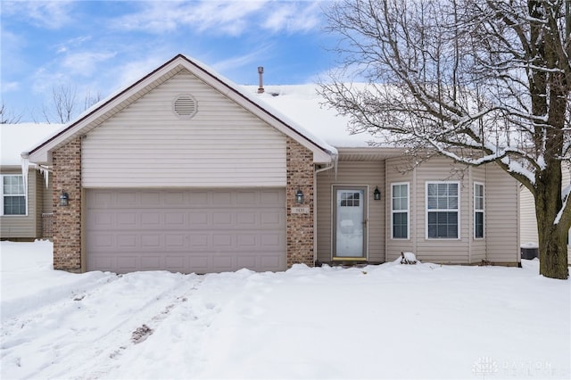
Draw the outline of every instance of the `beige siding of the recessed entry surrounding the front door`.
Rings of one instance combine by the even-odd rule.
[[[332,252],[332,188],[333,186],[368,186],[368,260],[385,261],[385,162],[340,161],[335,169],[317,176],[317,259],[331,261]],[[378,186],[381,200],[373,200]]]

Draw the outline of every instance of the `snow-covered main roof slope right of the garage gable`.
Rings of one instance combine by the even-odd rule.
[[[347,128],[349,118],[338,115],[318,94],[315,84],[265,86],[257,94],[257,86],[244,86],[244,92],[255,94],[259,103],[272,113],[285,115],[294,125],[301,126],[311,135],[335,148],[368,147],[372,137],[367,133],[351,134]]]

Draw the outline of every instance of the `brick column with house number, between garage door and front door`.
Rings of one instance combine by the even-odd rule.
[[[313,153],[287,137],[287,268],[294,264],[313,267]],[[295,194],[303,192],[303,204]],[[293,207],[309,208],[309,213],[292,213]]]

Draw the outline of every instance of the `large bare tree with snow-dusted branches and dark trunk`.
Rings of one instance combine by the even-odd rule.
[[[567,278],[569,0],[345,0],[327,18],[343,65],[321,92],[352,131],[415,160],[496,162],[534,195],[540,273]]]

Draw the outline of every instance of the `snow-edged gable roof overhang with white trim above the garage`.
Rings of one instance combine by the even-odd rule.
[[[238,87],[227,78],[220,76],[203,63],[191,60],[183,54],[178,54],[130,86],[96,103],[86,112],[79,115],[76,120],[70,122],[70,124],[54,133],[53,136],[50,136],[41,144],[35,146],[28,152],[29,161],[40,164],[50,164],[52,159],[51,153],[54,149],[65,145],[77,136],[86,135],[91,129],[97,127],[103,121],[112,118],[113,115],[148,94],[153,88],[160,86],[168,79],[174,77],[181,70],[188,70],[194,76],[203,80],[204,83],[218,90],[221,94],[226,95],[229,99],[252,112],[261,120],[264,120],[271,127],[276,128],[284,133],[285,136],[293,138],[308,148],[313,153],[316,163],[328,163],[332,161],[337,154],[334,146],[328,145],[318,136],[312,135],[310,131],[302,128],[302,126],[296,124],[294,121],[283,120],[285,118],[280,118],[270,112],[264,103],[255,99],[254,96],[247,94],[243,88]]]

